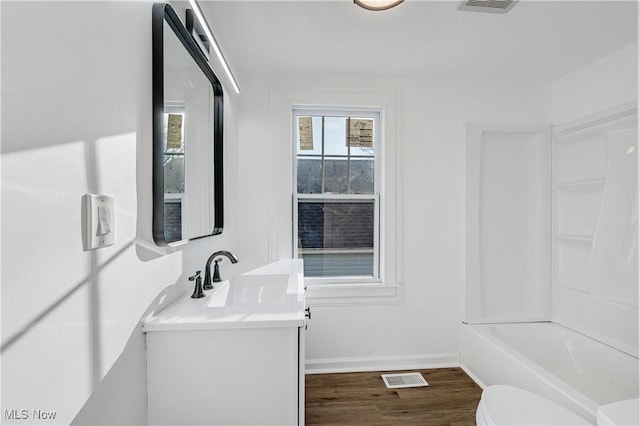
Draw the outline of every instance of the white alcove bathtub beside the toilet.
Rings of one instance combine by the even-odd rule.
[[[463,324],[460,345],[480,386],[518,386],[594,424],[598,406],[638,397],[638,358],[555,323]]]

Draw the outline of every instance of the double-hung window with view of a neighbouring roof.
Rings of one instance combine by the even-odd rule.
[[[380,112],[293,116],[294,256],[316,281],[378,282]]]

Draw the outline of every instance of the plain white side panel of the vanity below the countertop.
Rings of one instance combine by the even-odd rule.
[[[149,424],[295,425],[299,328],[147,334]]]

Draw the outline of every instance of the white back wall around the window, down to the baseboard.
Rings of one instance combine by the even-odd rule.
[[[307,367],[392,368],[458,361],[464,279],[464,123],[549,122],[549,88],[518,82],[425,82],[353,75],[242,80],[239,244],[252,258],[291,256],[290,127],[272,120],[274,93],[397,94],[404,156],[403,241],[396,304],[314,306]],[[269,231],[271,229],[271,231]]]

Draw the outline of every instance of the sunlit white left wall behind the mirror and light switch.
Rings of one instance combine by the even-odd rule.
[[[29,410],[15,423],[37,424],[31,410],[41,409],[57,412],[46,423],[69,424],[86,403],[78,423],[146,424],[141,317],[184,292],[212,251],[234,249],[231,214],[222,236],[172,254],[143,243],[151,5],[1,5],[1,408]],[[233,147],[226,155],[233,194]],[[82,250],[87,192],[115,196],[112,247]],[[233,196],[226,201],[233,211]]]

